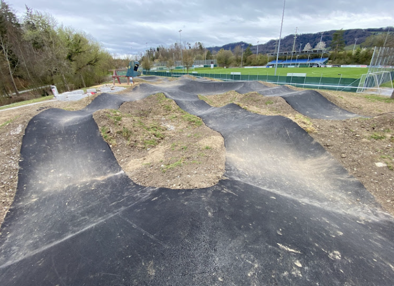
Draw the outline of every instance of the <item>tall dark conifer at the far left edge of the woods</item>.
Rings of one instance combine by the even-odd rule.
[[[21,39],[20,24],[16,15],[11,11],[7,3],[0,1],[0,53],[6,62],[10,81],[16,95],[19,95],[14,80],[14,72],[18,68],[19,59],[15,50]]]

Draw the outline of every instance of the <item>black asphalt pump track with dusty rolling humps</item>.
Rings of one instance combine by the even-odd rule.
[[[197,96],[228,90],[286,93],[180,79],[35,116],[2,226],[0,284],[392,285],[393,217],[291,120]],[[171,190],[125,175],[92,113],[156,92],[222,134],[226,180]],[[320,108],[330,119],[347,114]]]

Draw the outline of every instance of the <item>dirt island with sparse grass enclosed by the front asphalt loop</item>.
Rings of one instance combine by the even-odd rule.
[[[93,117],[122,169],[139,185],[206,188],[223,176],[223,137],[162,93]]]

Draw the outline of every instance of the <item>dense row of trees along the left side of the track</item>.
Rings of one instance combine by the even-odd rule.
[[[51,15],[27,6],[18,19],[0,0],[1,98],[49,84],[61,91],[98,84],[117,64],[125,66],[89,34],[59,25]]]

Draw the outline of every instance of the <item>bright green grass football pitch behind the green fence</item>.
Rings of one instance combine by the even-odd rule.
[[[260,69],[245,69],[245,68],[234,68],[234,69],[224,69],[224,68],[198,68],[189,69],[189,73],[198,72],[203,74],[230,74],[232,72],[240,72],[243,75],[269,75],[273,76],[275,74],[274,68],[260,68]],[[277,68],[276,75],[286,76],[288,73],[306,73],[307,77],[326,77],[326,78],[340,78],[341,74],[343,78],[353,78],[358,79],[362,74],[366,74],[368,68]],[[182,70],[174,70],[174,73],[182,73]]]

